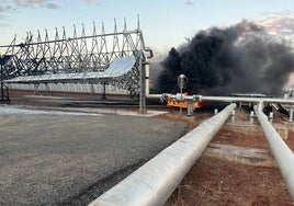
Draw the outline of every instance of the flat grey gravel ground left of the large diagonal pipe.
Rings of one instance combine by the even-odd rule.
[[[188,129],[156,117],[1,110],[0,205],[86,205]]]

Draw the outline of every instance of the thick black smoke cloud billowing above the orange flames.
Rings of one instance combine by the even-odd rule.
[[[179,92],[178,76],[184,73],[189,93],[279,95],[294,70],[294,55],[262,27],[241,22],[200,32],[179,49],[171,48],[162,65],[160,93]]]

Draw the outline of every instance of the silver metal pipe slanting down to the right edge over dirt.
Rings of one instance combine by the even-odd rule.
[[[287,145],[282,140],[278,131],[268,121],[262,112],[262,104],[255,106],[258,121],[263,129],[265,138],[270,145],[273,157],[279,165],[282,176],[287,185],[292,201],[294,201],[294,154]]]

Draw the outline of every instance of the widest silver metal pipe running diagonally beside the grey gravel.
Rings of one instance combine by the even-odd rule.
[[[149,160],[121,183],[102,194],[90,206],[162,205],[183,176],[225,124],[236,104],[184,135],[181,139]]]

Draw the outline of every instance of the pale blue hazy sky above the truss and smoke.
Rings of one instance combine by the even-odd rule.
[[[0,45],[10,44],[14,34],[20,43],[29,31],[35,36],[37,30],[44,34],[45,28],[54,34],[55,27],[61,31],[63,26],[70,37],[74,24],[79,35],[81,23],[91,35],[93,21],[98,31],[104,22],[105,31],[113,32],[114,18],[118,31],[124,18],[132,30],[136,28],[137,14],[146,45],[167,50],[211,26],[227,26],[244,19],[294,16],[294,0],[0,0]]]

